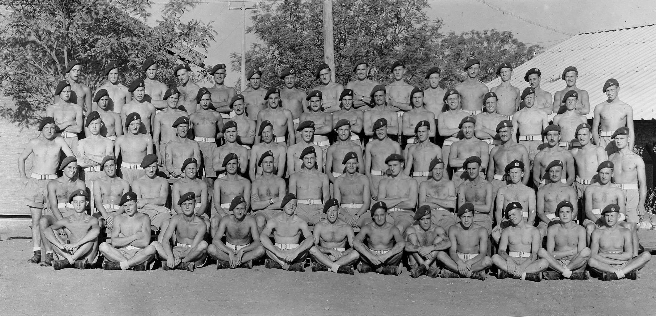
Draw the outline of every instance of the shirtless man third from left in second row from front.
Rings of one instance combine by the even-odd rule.
[[[159,231],[157,241],[162,243],[172,215],[171,210],[164,206],[169,198],[169,182],[164,177],[157,176],[157,155],[146,155],[140,166],[146,174],[135,179],[132,184],[132,190],[138,199],[136,207],[138,212],[148,215],[149,224]],[[150,229],[148,236],[150,236]]]

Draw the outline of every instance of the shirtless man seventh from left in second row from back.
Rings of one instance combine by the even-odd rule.
[[[280,90],[277,87],[269,88],[264,94],[264,100],[268,107],[260,110],[257,114],[257,126],[259,130],[262,122],[268,121],[274,127],[275,143],[281,145],[294,145],[296,138],[294,134],[294,119],[291,111],[280,107]],[[287,135],[287,137],[285,137]],[[289,142],[287,142],[289,141]],[[255,138],[255,144],[260,143],[260,138]]]

